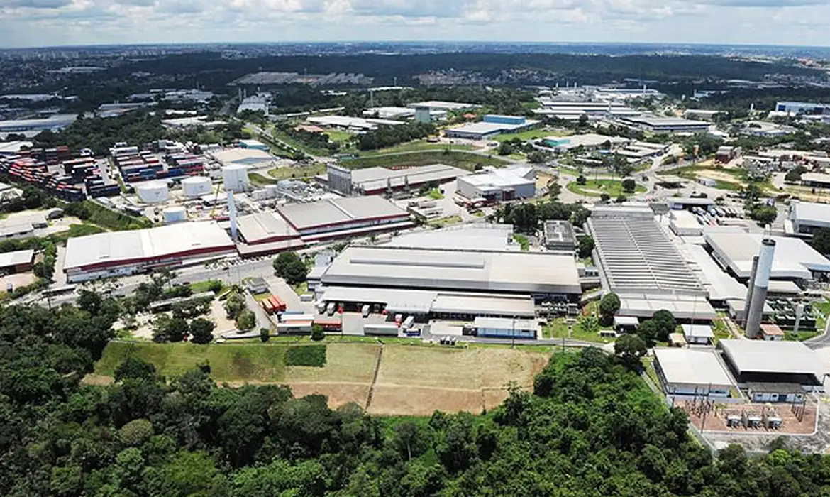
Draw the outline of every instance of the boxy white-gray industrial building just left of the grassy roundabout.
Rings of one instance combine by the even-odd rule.
[[[491,169],[456,180],[457,193],[467,199],[503,202],[532,199],[536,195],[536,170],[532,166]]]

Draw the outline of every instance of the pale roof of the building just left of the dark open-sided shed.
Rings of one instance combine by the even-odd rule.
[[[688,348],[656,348],[654,358],[666,382],[683,385],[730,386],[733,384],[715,351]]]

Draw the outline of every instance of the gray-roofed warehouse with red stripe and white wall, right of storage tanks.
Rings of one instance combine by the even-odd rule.
[[[305,242],[406,229],[412,226],[407,211],[378,196],[286,204],[277,212]]]

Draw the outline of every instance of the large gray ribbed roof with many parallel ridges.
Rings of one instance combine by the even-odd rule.
[[[610,210],[610,209],[609,209]],[[653,217],[635,215],[588,219],[599,265],[611,291],[686,295],[704,290],[675,244]]]

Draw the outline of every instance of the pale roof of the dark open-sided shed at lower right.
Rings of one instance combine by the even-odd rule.
[[[725,356],[740,373],[824,374],[824,367],[802,342],[766,340],[720,340]]]

